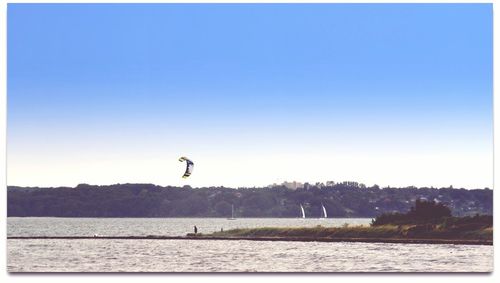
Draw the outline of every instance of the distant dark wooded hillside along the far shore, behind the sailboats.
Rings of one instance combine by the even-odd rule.
[[[56,217],[375,217],[406,212],[417,199],[445,204],[453,215],[492,214],[490,189],[379,188],[346,184],[307,189],[190,188],[116,184],[75,188],[8,187],[8,216]]]

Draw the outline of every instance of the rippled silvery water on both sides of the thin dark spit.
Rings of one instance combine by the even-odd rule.
[[[9,236],[185,235],[370,219],[8,218]],[[492,246],[203,240],[8,240],[9,272],[489,272]]]

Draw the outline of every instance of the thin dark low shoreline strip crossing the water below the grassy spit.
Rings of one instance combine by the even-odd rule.
[[[220,237],[220,236],[27,236],[7,237],[7,240],[219,240],[219,241],[285,241],[285,242],[353,242],[390,244],[452,244],[487,245],[492,240],[419,239],[419,238],[327,238],[327,237]]]

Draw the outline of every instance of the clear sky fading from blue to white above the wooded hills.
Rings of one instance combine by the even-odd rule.
[[[9,4],[8,184],[492,186],[491,4]]]

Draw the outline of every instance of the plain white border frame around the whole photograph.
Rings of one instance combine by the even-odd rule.
[[[165,282],[165,280],[175,280],[182,282],[217,282],[217,283],[234,283],[237,280],[238,283],[246,283],[252,282],[256,280],[286,280],[286,283],[293,282],[303,282],[304,280],[311,280],[312,278],[304,278],[305,276],[314,276],[313,280],[317,281],[325,281],[325,280],[349,280],[352,282],[363,282],[366,283],[367,280],[372,283],[375,282],[383,282],[383,283],[392,283],[392,282],[401,282],[405,281],[407,283],[410,282],[421,282],[423,280],[431,282],[440,282],[443,280],[453,280],[453,283],[470,283],[471,281],[482,281],[482,282],[499,282],[500,280],[500,271],[498,261],[494,260],[494,271],[491,274],[468,274],[468,273],[431,273],[431,274],[422,274],[422,273],[397,273],[397,274],[387,274],[387,273],[331,273],[331,274],[314,274],[314,273],[288,273],[288,274],[193,274],[193,273],[179,273],[179,274],[88,274],[88,273],[68,273],[68,274],[9,274],[7,273],[7,250],[6,250],[6,237],[7,237],[7,183],[6,183],[6,125],[7,125],[7,5],[9,3],[141,3],[139,0],[107,0],[107,1],[98,1],[98,0],[48,0],[48,1],[39,1],[39,0],[6,0],[0,2],[0,185],[4,190],[3,193],[0,194],[0,207],[2,208],[3,216],[0,217],[0,237],[2,243],[0,244],[0,268],[3,270],[3,273],[0,275],[2,282],[30,282],[36,280],[37,282],[50,282],[50,283],[67,283],[68,280],[71,280],[72,283],[80,283],[85,282],[88,283],[91,281],[105,281],[105,280],[120,280],[121,282],[135,282],[136,280],[144,280],[152,282]],[[493,56],[493,68],[498,66],[499,59],[498,56],[495,56],[495,53],[498,54],[499,51],[499,41],[498,41],[498,32],[500,30],[500,21],[495,19],[495,11],[497,5],[493,1],[484,1],[484,0],[441,0],[441,1],[394,1],[394,0],[385,0],[385,1],[331,1],[331,0],[314,0],[311,2],[308,1],[297,1],[297,0],[275,0],[275,1],[264,1],[264,0],[254,0],[254,1],[209,1],[209,0],[186,0],[186,1],[165,1],[165,0],[147,0],[144,3],[492,3],[493,4],[493,45],[494,45],[494,56]],[[500,81],[500,76],[497,72],[493,72],[494,86],[496,82]],[[498,99],[495,99],[495,91],[493,94],[493,127],[494,127],[494,144],[499,140],[499,131],[497,125],[500,125],[498,119],[499,115],[495,115],[500,111]],[[493,159],[497,160],[497,151],[493,151]],[[495,165],[493,166],[493,189],[495,188],[495,180],[498,177],[498,170],[495,170]],[[494,198],[494,207],[495,204],[499,203],[500,194],[493,194]],[[494,213],[495,214],[495,213]],[[500,216],[494,215],[494,226],[500,227]],[[499,241],[499,233],[494,233],[494,242],[498,243]],[[495,246],[495,253],[498,254],[498,244]],[[165,278],[168,276],[168,278]],[[279,278],[277,278],[279,276]],[[69,278],[70,277],[70,278]],[[235,278],[238,277],[238,278]],[[335,278],[331,278],[335,277]],[[204,283],[203,282],[203,283]],[[474,283],[475,283],[474,282]]]

